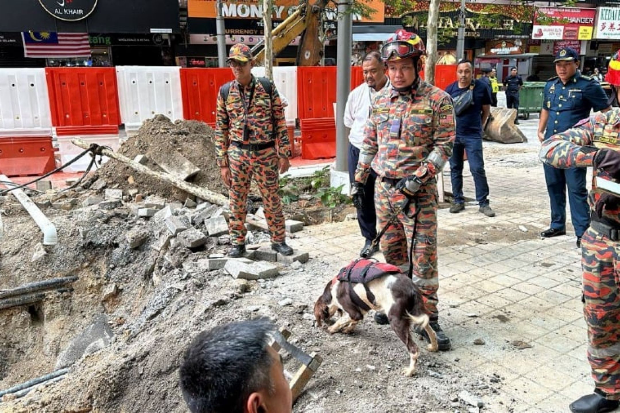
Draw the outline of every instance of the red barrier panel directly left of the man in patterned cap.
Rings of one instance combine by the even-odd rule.
[[[232,71],[226,67],[182,67],[183,118],[213,126],[219,88],[232,79]]]

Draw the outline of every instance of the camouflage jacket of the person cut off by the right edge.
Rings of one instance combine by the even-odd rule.
[[[539,157],[542,162],[556,168],[591,167],[596,155],[595,148],[620,150],[620,108],[612,108],[604,113],[593,113],[575,125],[572,129],[555,134],[542,142]],[[593,172],[596,176],[596,170]],[[594,208],[601,196],[592,181],[592,190],[588,196],[590,208]],[[604,217],[620,222],[620,211],[604,210]]]

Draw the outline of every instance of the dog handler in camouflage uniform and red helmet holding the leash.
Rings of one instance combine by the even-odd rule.
[[[389,222],[381,250],[387,263],[410,270],[422,290],[439,349],[448,350],[450,341],[441,331],[437,311],[435,175],[452,152],[454,108],[447,93],[418,76],[425,54],[420,37],[402,29],[383,46],[391,86],[374,97],[352,195],[356,205],[363,205],[363,184],[372,168],[378,175],[374,203],[379,228]],[[386,323],[387,317],[376,315],[375,320]]]

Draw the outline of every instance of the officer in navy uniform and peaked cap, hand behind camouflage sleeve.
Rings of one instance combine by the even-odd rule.
[[[582,76],[578,70],[579,54],[563,48],[556,54],[556,77],[544,87],[542,110],[538,122],[538,139],[546,141],[552,135],[572,128],[587,118],[590,110],[608,110],[607,95],[596,80]],[[577,236],[577,247],[583,232],[590,224],[588,191],[585,187],[586,169],[568,169],[544,165],[547,192],[551,200],[551,226],[541,237],[557,237],[566,233],[566,188],[569,189],[570,216]]]

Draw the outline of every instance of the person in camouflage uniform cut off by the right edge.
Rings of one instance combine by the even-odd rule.
[[[620,51],[605,78],[620,95]],[[574,128],[542,142],[542,162],[556,168],[593,167],[593,175],[620,181],[620,109],[593,113]],[[590,227],[583,234],[583,315],[595,389],[570,404],[574,413],[608,412],[620,400],[620,198],[596,180],[588,196]]]

